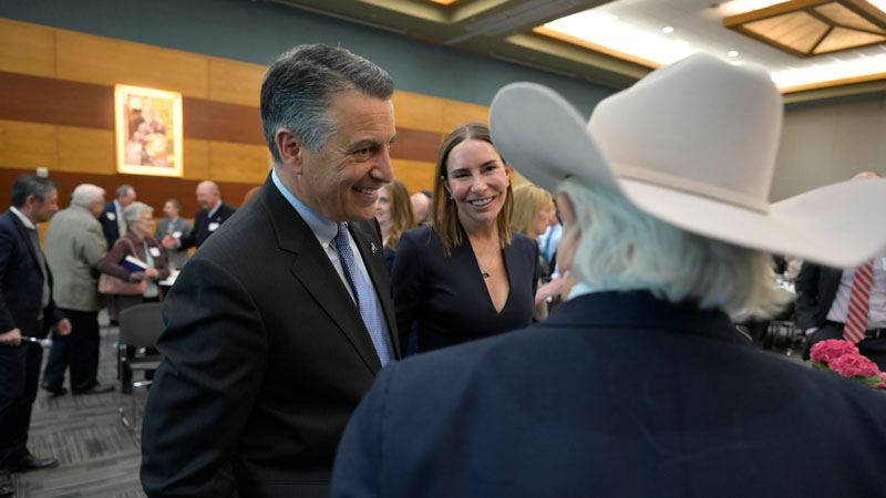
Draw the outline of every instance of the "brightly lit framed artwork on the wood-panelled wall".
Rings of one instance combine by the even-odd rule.
[[[117,173],[182,176],[182,94],[114,85]]]

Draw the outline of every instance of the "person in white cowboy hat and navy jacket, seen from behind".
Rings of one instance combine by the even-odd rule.
[[[732,322],[779,309],[770,252],[845,267],[886,247],[861,216],[886,209],[886,181],[769,204],[781,95],[704,54],[587,127],[532,83],[490,116],[505,159],[556,194],[568,300],[389,365],[341,439],[333,497],[886,496],[886,396]]]

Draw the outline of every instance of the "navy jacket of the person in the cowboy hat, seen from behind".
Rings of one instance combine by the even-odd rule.
[[[761,352],[727,315],[600,292],[396,362],[333,497],[886,496],[886,396]]]

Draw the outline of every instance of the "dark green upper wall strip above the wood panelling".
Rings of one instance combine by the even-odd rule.
[[[0,0],[0,17],[269,64],[299,43],[341,45],[408,92],[490,105],[514,81],[548,85],[587,116],[614,90],[296,9],[250,0]]]

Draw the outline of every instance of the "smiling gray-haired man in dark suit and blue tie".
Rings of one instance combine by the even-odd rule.
[[[400,357],[373,219],[393,82],[327,45],[261,86],[265,185],[185,266],[143,426],[148,496],[326,497],[344,424]]]

